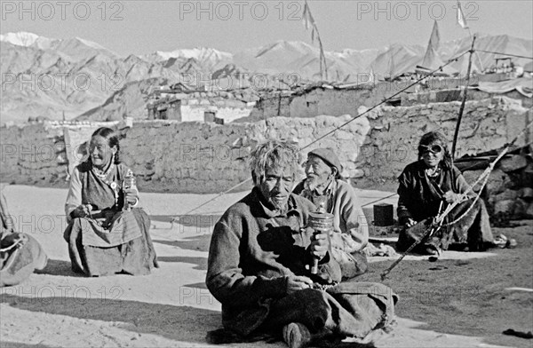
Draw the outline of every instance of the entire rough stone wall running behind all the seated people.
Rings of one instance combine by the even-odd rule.
[[[317,146],[333,147],[345,166],[344,174],[358,178],[359,185],[394,184],[402,169],[417,159],[418,140],[424,133],[441,130],[451,142],[459,105],[459,102],[450,102],[379,107],[309,150]],[[132,123],[131,128],[118,123],[91,123],[83,127],[44,123],[2,128],[1,180],[16,183],[64,181],[68,172],[66,158],[79,158],[79,143],[106,124],[122,129],[124,162],[137,173],[142,189],[219,193],[250,178],[246,162],[251,147],[259,141],[290,138],[305,146],[345,123],[349,117],[278,117],[257,123],[225,125],[156,120]],[[477,154],[504,146],[531,120],[531,111],[517,100],[468,101],[457,142],[458,154]],[[529,130],[517,145],[532,138]],[[34,156],[28,155],[31,146],[35,147]],[[71,151],[70,157],[64,147]],[[46,149],[52,148],[55,154],[44,154]]]

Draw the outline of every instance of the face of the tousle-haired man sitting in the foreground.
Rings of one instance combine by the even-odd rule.
[[[276,209],[283,210],[287,207],[289,194],[294,186],[294,171],[290,168],[272,169],[267,167],[265,178],[259,184],[259,191],[267,202]]]

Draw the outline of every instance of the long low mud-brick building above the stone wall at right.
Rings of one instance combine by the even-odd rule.
[[[511,78],[489,83],[483,80],[483,77],[488,79],[485,76],[487,75],[472,75],[468,99],[505,96],[521,100],[524,107],[531,107],[533,104],[531,78]],[[465,76],[441,75],[410,87],[415,80],[416,75],[405,75],[394,81],[313,83],[291,91],[270,91],[261,95],[246,121],[254,122],[279,116],[356,116],[359,107],[373,107],[399,91],[402,93],[396,95],[394,99],[388,99],[386,105],[409,107],[417,104],[457,101],[463,98]]]

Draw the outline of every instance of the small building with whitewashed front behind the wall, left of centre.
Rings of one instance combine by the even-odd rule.
[[[259,98],[251,89],[195,91],[183,83],[156,90],[147,104],[148,120],[230,123],[248,117]]]

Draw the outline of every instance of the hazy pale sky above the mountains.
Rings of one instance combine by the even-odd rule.
[[[121,55],[213,47],[235,52],[277,40],[311,44],[303,1],[1,1],[0,32],[79,36]],[[22,4],[22,6],[20,6]],[[457,1],[322,1],[308,4],[326,51],[426,45],[468,36]],[[533,1],[461,1],[472,32],[533,37]]]

